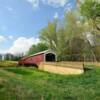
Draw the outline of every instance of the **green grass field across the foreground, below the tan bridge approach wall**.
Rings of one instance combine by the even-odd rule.
[[[2,62],[0,100],[100,100],[100,67],[86,67],[82,75],[64,76]]]

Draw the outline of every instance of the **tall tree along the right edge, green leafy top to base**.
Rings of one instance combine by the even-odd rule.
[[[81,4],[80,9],[85,23],[87,23],[84,27],[84,33],[91,33],[94,38],[92,39],[94,45],[91,45],[89,39],[87,39],[87,41],[90,45],[90,51],[97,61],[98,55],[100,54],[100,52],[98,52],[100,51],[100,42],[98,41],[98,35],[100,34],[100,2],[99,0],[85,0],[84,3]]]

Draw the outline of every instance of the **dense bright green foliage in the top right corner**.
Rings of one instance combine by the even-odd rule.
[[[100,31],[100,2],[99,0],[85,0],[81,5],[81,14],[89,21],[92,26]]]

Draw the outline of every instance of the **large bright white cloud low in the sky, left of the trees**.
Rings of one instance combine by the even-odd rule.
[[[9,49],[8,52],[13,54],[26,53],[32,46],[32,44],[37,44],[38,42],[38,38],[19,37],[17,40],[14,41],[12,47]]]

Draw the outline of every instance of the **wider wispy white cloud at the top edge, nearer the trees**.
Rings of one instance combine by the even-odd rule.
[[[68,0],[42,0],[44,4],[54,7],[64,7]]]

